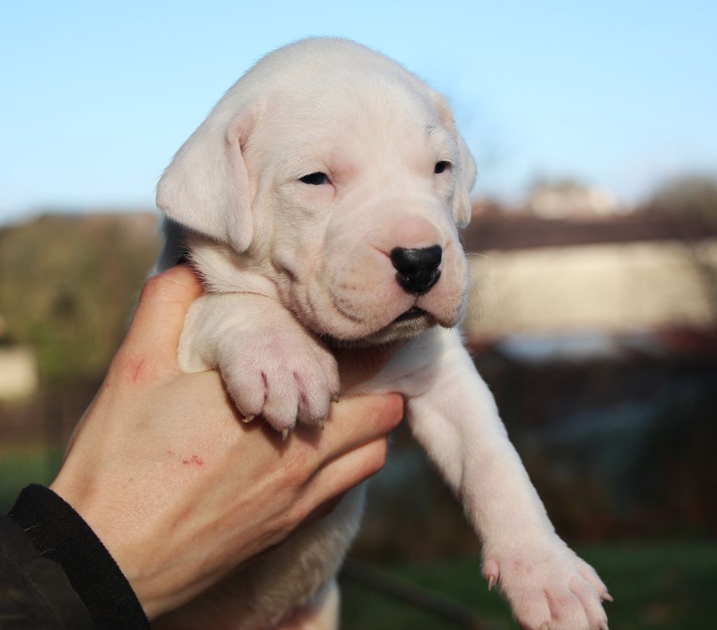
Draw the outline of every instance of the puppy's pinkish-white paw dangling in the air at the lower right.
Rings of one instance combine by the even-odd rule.
[[[607,630],[612,601],[595,570],[557,536],[541,545],[490,550],[483,562],[526,630]]]

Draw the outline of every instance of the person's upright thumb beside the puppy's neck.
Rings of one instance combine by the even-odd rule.
[[[176,366],[176,350],[191,303],[201,284],[191,268],[177,265],[144,285],[123,348],[150,350],[153,362]]]

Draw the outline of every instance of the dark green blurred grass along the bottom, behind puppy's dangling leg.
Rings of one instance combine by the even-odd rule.
[[[717,543],[631,542],[579,547],[607,583],[611,630],[712,630],[717,627]],[[488,628],[516,629],[508,607],[488,593],[478,558],[386,565],[389,575],[452,598]],[[348,580],[343,630],[458,628]]]

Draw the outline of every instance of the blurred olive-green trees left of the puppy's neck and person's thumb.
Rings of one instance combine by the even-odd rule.
[[[5,334],[49,384],[101,375],[158,252],[153,215],[54,215],[0,230]]]

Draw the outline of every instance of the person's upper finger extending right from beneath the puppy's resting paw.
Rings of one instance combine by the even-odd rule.
[[[326,431],[312,448],[316,466],[389,433],[403,417],[399,394],[348,397],[331,405]]]

